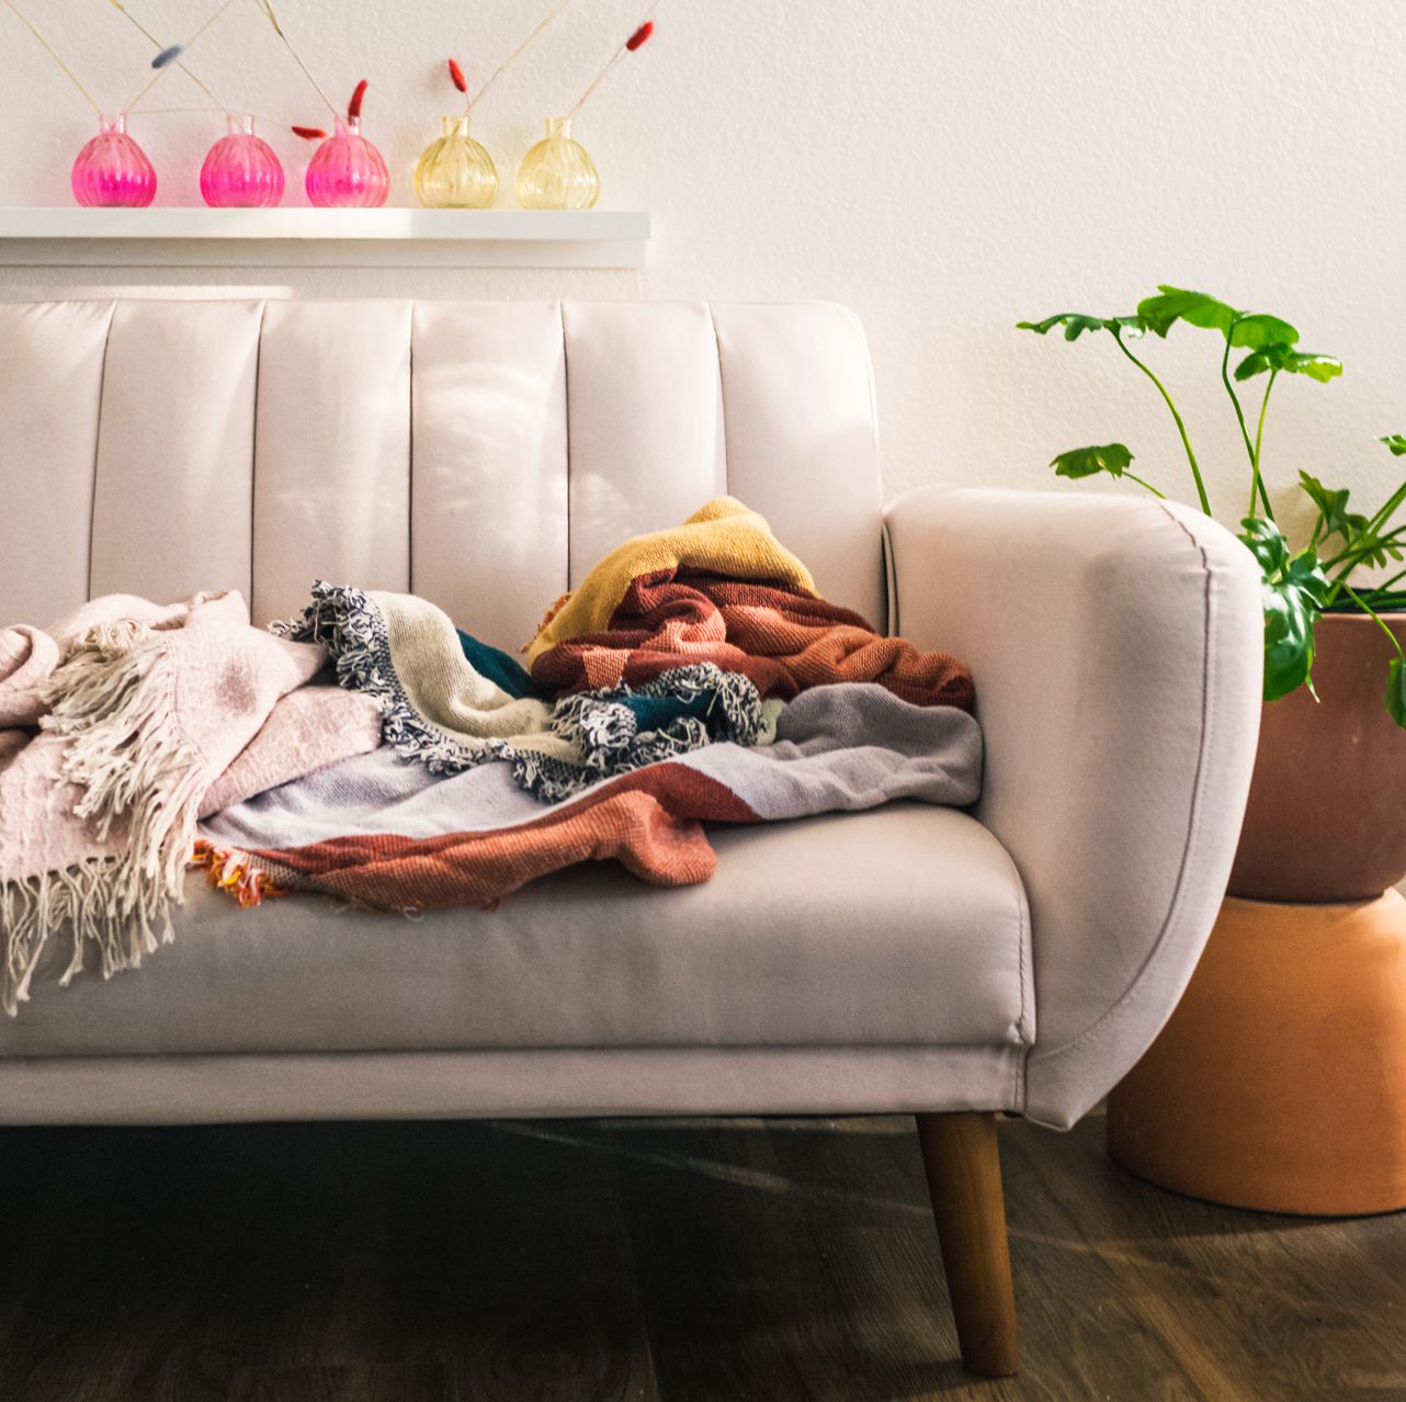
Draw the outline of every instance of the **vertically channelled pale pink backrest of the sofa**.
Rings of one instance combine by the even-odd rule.
[[[884,626],[868,350],[824,304],[0,307],[0,623],[314,578],[516,647],[721,492]]]

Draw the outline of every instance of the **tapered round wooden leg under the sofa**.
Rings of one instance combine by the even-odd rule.
[[[986,1378],[1017,1370],[1015,1294],[994,1114],[918,1115],[962,1365]]]

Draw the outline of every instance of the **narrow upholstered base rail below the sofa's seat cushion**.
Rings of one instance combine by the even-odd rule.
[[[1019,1110],[1015,1046],[581,1048],[0,1062],[0,1124]]]

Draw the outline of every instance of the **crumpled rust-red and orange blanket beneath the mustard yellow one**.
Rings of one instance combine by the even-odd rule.
[[[972,675],[946,652],[883,637],[858,613],[785,584],[685,568],[630,581],[600,633],[571,637],[533,662],[533,681],[564,693],[654,681],[696,662],[744,672],[763,696],[877,682],[915,706],[970,710]]]

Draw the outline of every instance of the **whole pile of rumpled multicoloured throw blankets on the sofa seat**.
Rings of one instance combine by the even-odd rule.
[[[612,551],[523,651],[326,582],[269,631],[229,593],[0,631],[0,1004],[65,925],[62,982],[90,944],[141,963],[191,861],[240,904],[427,910],[583,861],[706,880],[707,821],[977,796],[965,668],[821,599],[731,498]]]

